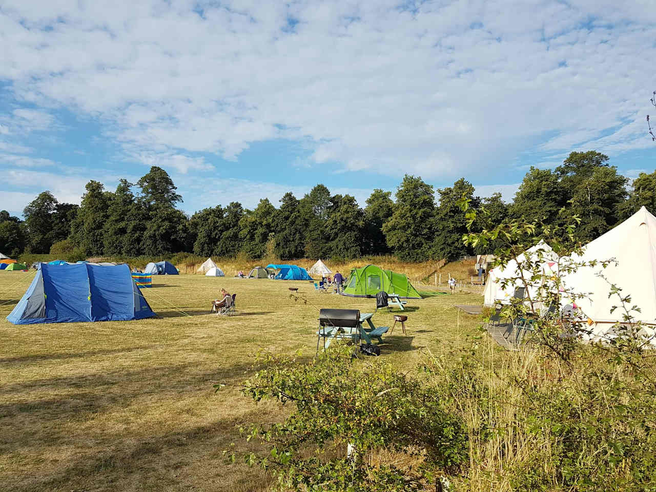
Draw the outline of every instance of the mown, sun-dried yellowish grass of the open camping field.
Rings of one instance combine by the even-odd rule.
[[[240,424],[281,417],[239,394],[253,355],[300,349],[312,358],[318,308],[375,307],[307,282],[180,275],[144,289],[158,318],[14,326],[5,317],[33,275],[0,272],[2,491],[267,490],[257,470],[222,461]],[[237,293],[237,316],[209,314],[221,287]],[[401,369],[422,349],[462,346],[480,321],[454,304],[481,301],[474,293],[409,300],[408,334],[394,329],[382,357]],[[388,312],[373,320],[393,323]],[[228,387],[215,394],[216,381]]]

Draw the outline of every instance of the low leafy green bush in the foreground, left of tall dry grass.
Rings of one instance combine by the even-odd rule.
[[[277,475],[280,490],[423,491],[436,472],[457,472],[467,462],[461,421],[445,410],[434,386],[388,362],[360,364],[348,349],[310,363],[272,356],[259,362],[264,369],[243,384],[243,393],[291,409],[281,424],[243,430],[263,448],[243,460]],[[367,461],[382,449],[421,456],[423,463],[407,469]]]

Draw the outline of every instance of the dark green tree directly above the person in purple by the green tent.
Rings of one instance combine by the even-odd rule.
[[[358,258],[362,254],[364,213],[351,195],[331,198],[331,211],[326,222],[331,258]]]

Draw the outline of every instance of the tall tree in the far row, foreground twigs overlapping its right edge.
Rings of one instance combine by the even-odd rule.
[[[438,190],[438,193],[440,205],[435,212],[435,239],[432,241],[431,256],[439,260],[457,260],[471,253],[462,244],[462,236],[467,232],[467,223],[458,201],[466,197],[471,200],[472,207],[478,208],[480,198],[474,197],[474,186],[464,178],[457,180],[450,188]]]

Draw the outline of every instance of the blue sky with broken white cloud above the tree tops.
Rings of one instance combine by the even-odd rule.
[[[656,168],[652,0],[0,3],[0,209],[158,165],[194,211]]]

